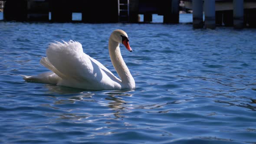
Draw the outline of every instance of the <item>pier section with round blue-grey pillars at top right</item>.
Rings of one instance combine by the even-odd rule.
[[[256,0],[184,0],[184,3],[193,10],[193,28],[256,28]]]

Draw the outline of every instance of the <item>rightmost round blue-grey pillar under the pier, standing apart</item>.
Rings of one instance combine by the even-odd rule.
[[[233,0],[234,28],[243,28],[243,0]]]

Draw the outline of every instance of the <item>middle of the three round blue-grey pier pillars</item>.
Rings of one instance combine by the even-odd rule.
[[[204,0],[204,26],[215,29],[215,0]]]

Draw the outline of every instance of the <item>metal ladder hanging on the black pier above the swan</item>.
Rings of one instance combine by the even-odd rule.
[[[129,22],[129,0],[118,0],[118,21],[119,23]]]

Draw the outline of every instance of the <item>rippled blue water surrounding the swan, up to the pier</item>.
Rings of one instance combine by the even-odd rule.
[[[189,18],[190,19],[190,18]],[[187,21],[188,19],[184,20]],[[49,43],[73,39],[115,75],[112,30],[136,88],[89,91],[24,82]],[[254,144],[256,29],[191,24],[0,22],[2,144]]]

